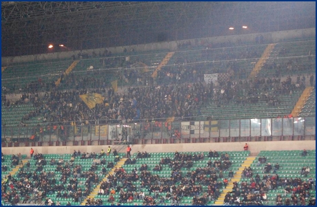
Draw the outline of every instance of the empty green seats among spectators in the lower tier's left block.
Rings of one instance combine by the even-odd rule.
[[[82,155],[82,154],[81,154]],[[119,153],[119,156],[122,157],[124,154]],[[36,155],[34,155],[35,157]],[[30,167],[28,168],[28,165],[25,164],[23,168],[19,169],[19,172],[17,172],[13,177],[13,184],[17,185],[16,182],[25,182],[25,176],[30,176],[28,179],[28,182],[30,182],[31,188],[38,188],[39,191],[45,192],[43,193],[43,201],[46,198],[51,198],[52,201],[54,201],[54,204],[57,204],[57,201],[61,204],[61,206],[65,206],[68,201],[70,201],[70,204],[72,206],[76,205],[79,206],[81,204],[81,201],[85,197],[87,197],[91,190],[96,187],[99,182],[101,182],[101,179],[105,177],[105,174],[102,173],[103,166],[106,168],[108,162],[113,162],[114,165],[116,164],[114,160],[114,155],[110,154],[109,156],[103,155],[100,159],[103,160],[105,158],[106,162],[105,165],[103,164],[97,164],[96,169],[91,169],[93,164],[93,158],[85,158],[81,159],[80,156],[76,156],[74,158],[74,162],[72,165],[70,165],[70,159],[72,157],[72,154],[46,154],[43,155],[44,160],[47,162],[47,164],[43,165],[43,169],[38,168],[38,160],[32,159],[29,160]],[[96,157],[99,157],[99,154],[96,155]],[[54,159],[56,161],[55,164],[50,164],[50,161]],[[63,159],[63,164],[57,164],[60,159]],[[42,161],[43,162],[43,161]],[[68,163],[68,167],[65,166],[65,164]],[[61,166],[65,169],[68,169],[67,171],[57,171],[57,166]],[[81,173],[80,175],[73,175],[76,171],[76,166],[81,166]],[[107,168],[107,172],[110,171],[110,168]],[[68,172],[68,173],[66,173]],[[25,174],[26,173],[26,174]],[[30,173],[30,174],[29,174]],[[46,173],[46,175],[43,175],[43,173]],[[54,174],[50,174],[54,173]],[[89,176],[88,176],[88,173]],[[37,177],[34,177],[34,175],[37,174]],[[63,179],[65,175],[65,181]],[[97,176],[98,179],[90,179],[91,176]],[[43,188],[41,186],[38,186],[39,179],[46,180],[48,182],[49,186]],[[55,179],[55,184],[52,182],[52,179]],[[71,181],[71,179],[76,179]],[[73,182],[73,183],[72,183]],[[25,182],[26,184],[27,182]],[[75,185],[76,188],[68,188],[68,186]],[[9,188],[9,184],[6,184]],[[57,187],[59,186],[59,187]],[[7,188],[7,189],[8,189]],[[63,190],[60,189],[61,195],[63,195],[65,192],[67,193],[67,197],[57,197],[57,193],[59,190],[57,188],[63,188]],[[79,189],[81,189],[82,197],[79,198],[78,201],[75,201],[74,197],[70,195],[70,190],[72,191],[72,194],[78,193]],[[23,188],[18,188],[17,192],[21,193]],[[23,199],[26,196],[30,196],[28,201],[32,200],[32,193],[23,193],[20,195],[20,201],[23,201]],[[27,202],[28,202],[27,201]],[[39,201],[38,201],[39,203]]]

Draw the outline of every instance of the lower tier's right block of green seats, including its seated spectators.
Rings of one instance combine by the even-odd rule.
[[[234,183],[224,202],[305,206],[311,197],[316,197],[315,181],[316,151],[307,151],[305,156],[303,151],[261,151],[250,168],[245,168],[242,179]]]

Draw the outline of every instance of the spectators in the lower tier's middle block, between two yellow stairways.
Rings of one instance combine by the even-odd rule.
[[[214,152],[216,153],[216,151]],[[214,152],[212,153],[214,154]],[[135,159],[134,162],[139,163],[139,159],[148,156],[149,154],[146,152],[138,152],[138,156],[132,160]],[[114,205],[114,202],[119,205],[133,202],[136,199],[141,199],[143,205],[150,206],[163,205],[166,200],[170,200],[171,205],[179,205],[183,197],[193,197],[193,205],[203,206],[208,201],[216,200],[221,194],[220,189],[226,186],[228,182],[227,178],[223,181],[220,178],[223,178],[223,172],[229,171],[223,167],[229,161],[229,155],[221,154],[218,157],[220,161],[215,160],[212,165],[198,167],[193,171],[189,169],[192,168],[194,162],[204,160],[205,156],[203,154],[178,153],[176,151],[172,159],[161,157],[161,162],[156,164],[154,169],[156,168],[156,171],[161,171],[162,168],[170,169],[170,177],[154,175],[150,172],[147,164],[141,164],[139,168],[133,168],[130,173],[127,173],[124,167],[116,168],[114,175],[110,175],[107,181],[101,184],[98,195],[107,195],[107,201],[112,205]],[[133,165],[132,160],[130,159],[125,164]],[[187,168],[187,172],[182,171],[184,167]],[[154,169],[152,170],[155,171]],[[135,182],[140,182],[140,185],[137,186]],[[203,186],[207,186],[207,189],[203,190]],[[144,188],[147,191],[143,191]],[[115,199],[114,194],[119,194],[119,199]],[[98,201],[90,199],[87,205],[97,204]]]

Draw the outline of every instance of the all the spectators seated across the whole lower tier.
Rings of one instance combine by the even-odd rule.
[[[115,155],[118,154],[114,151]],[[45,160],[41,153],[35,153],[33,158],[35,166],[31,166],[30,161],[21,164],[17,173],[17,178],[10,174],[6,176],[1,185],[1,198],[5,204],[45,204],[48,206],[60,206],[60,199],[71,198],[74,202],[82,202],[84,197],[90,195],[93,184],[101,182],[100,177],[107,173],[106,168],[113,168],[114,163],[106,161],[105,151],[101,153],[81,153],[74,151],[70,160],[51,159]],[[307,156],[307,151],[303,151],[302,156]],[[148,158],[150,154],[145,152],[136,153],[136,157],[127,159],[125,165],[134,165],[143,162],[142,158]],[[105,195],[108,203],[117,205],[132,203],[136,200],[143,201],[143,205],[164,205],[169,200],[170,205],[179,205],[184,197],[192,197],[192,205],[205,206],[209,201],[215,201],[221,195],[221,189],[227,186],[229,177],[234,173],[230,169],[231,161],[227,153],[219,154],[217,151],[209,151],[207,159],[210,159],[206,166],[197,167],[191,170],[195,162],[205,159],[203,153],[174,153],[174,157],[161,157],[159,163],[152,169],[162,171],[170,169],[170,177],[160,177],[151,173],[147,164],[141,164],[139,168],[134,168],[130,173],[125,171],[124,166],[115,168],[114,174],[109,175],[105,181],[101,182],[98,195]],[[219,159],[214,159],[219,158]],[[17,166],[21,154],[12,155],[10,161],[12,166]],[[90,160],[89,171],[83,171],[81,164],[74,164],[76,159]],[[139,160],[141,159],[141,160]],[[107,159],[108,160],[108,159]],[[214,162],[212,161],[214,160]],[[6,157],[1,153],[1,161],[5,162]],[[54,171],[45,171],[45,166],[56,166]],[[98,166],[102,166],[98,174]],[[106,166],[106,167],[105,167]],[[284,194],[278,194],[274,205],[276,206],[303,206],[307,203],[314,204],[309,190],[316,188],[314,179],[307,180],[300,177],[281,177],[278,175],[280,165],[276,163],[272,166],[267,162],[267,157],[258,157],[258,164],[263,168],[263,176],[253,173],[254,169],[245,167],[242,178],[247,178],[241,183],[233,182],[232,191],[225,195],[225,205],[236,206],[263,206],[267,204],[267,193],[269,190],[284,189]],[[187,168],[187,172],[184,171]],[[299,173],[309,176],[307,171],[309,166],[304,166]],[[57,173],[61,177],[57,177]],[[79,178],[85,178],[83,181]],[[139,182],[139,184],[136,184]],[[80,185],[80,186],[79,186]],[[203,188],[207,186],[207,189]],[[146,189],[146,190],[145,190]],[[56,197],[51,195],[56,194]],[[291,194],[291,197],[286,197]],[[115,196],[119,195],[119,197]],[[43,203],[42,203],[43,201]],[[86,205],[102,205],[105,200],[89,198]],[[67,204],[70,206],[70,202]]]

